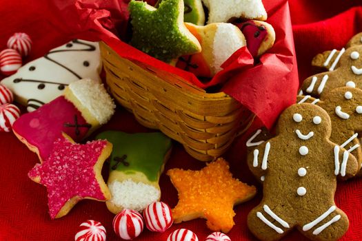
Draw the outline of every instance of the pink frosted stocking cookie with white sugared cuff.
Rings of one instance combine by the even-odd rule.
[[[79,142],[108,122],[113,113],[114,103],[103,85],[83,79],[71,83],[64,96],[21,116],[13,130],[43,161],[62,132]]]

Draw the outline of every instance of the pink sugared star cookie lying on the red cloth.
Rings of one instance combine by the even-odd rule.
[[[112,144],[107,140],[81,145],[66,134],[55,140],[50,156],[28,173],[48,189],[51,218],[65,216],[82,199],[110,199],[101,169],[111,152]]]

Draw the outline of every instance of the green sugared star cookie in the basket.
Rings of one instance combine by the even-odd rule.
[[[183,23],[183,0],[164,0],[159,8],[130,1],[131,45],[161,61],[201,52],[199,41]]]

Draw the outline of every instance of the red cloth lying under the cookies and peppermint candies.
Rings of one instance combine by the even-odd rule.
[[[68,37],[65,36],[77,36],[79,34],[77,31],[70,32],[70,29],[73,31],[74,28],[67,28],[66,25],[61,29],[54,28],[54,23],[47,21],[50,17],[54,19],[54,9],[52,9],[54,6],[48,2],[46,0],[1,1],[0,19],[3,24],[0,27],[0,49],[5,48],[6,41],[13,32],[28,32],[34,42],[32,54],[28,57],[30,60],[41,56],[46,50],[68,41]],[[89,0],[89,2],[92,1]],[[113,0],[103,1],[103,6],[108,7],[114,16],[119,16],[121,19],[120,14],[112,11],[117,9],[113,5],[115,2]],[[49,6],[49,8],[44,10],[44,6]],[[315,54],[324,50],[341,48],[351,36],[362,31],[362,7],[359,0],[292,0],[290,1],[290,10],[301,80],[312,74],[310,61]],[[75,14],[68,9],[64,11],[68,11],[67,14]],[[77,14],[88,16],[94,12],[78,12]],[[58,20],[62,21],[61,19]],[[107,19],[100,19],[100,21],[103,25],[110,24]],[[74,25],[77,24],[74,22]],[[117,114],[110,123],[102,129],[119,129],[124,132],[149,131],[139,125],[132,114],[121,107],[117,109]],[[257,185],[257,181],[245,165],[244,147],[245,138],[239,138],[225,154],[225,158],[230,162],[230,169],[235,177],[243,182]],[[28,171],[37,161],[37,156],[20,143],[13,134],[0,133],[1,241],[73,240],[78,225],[87,219],[102,222],[108,231],[108,240],[117,240],[112,231],[113,215],[102,202],[84,200],[79,202],[68,216],[59,220],[50,220],[46,189],[27,177]],[[188,156],[183,147],[175,143],[174,151],[165,169],[173,167],[201,169],[203,166],[204,163]],[[228,233],[234,241],[255,240],[246,227],[245,217],[248,211],[261,200],[261,188],[259,185],[257,186],[259,189],[257,197],[235,208],[237,212],[237,216],[234,218],[236,225]],[[172,207],[176,205],[177,191],[165,175],[161,176],[161,190],[161,199],[168,202]],[[342,240],[362,240],[362,180],[349,180],[339,183],[336,203],[350,218],[350,229]],[[199,240],[204,240],[211,233],[205,226],[205,220],[192,220],[175,224],[164,234],[151,233],[145,230],[137,240],[166,240],[170,232],[181,227],[197,233]],[[294,231],[283,240],[305,240],[305,238]]]

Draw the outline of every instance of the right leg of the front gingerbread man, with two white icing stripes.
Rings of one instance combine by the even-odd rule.
[[[334,205],[326,207],[324,213],[316,213],[313,218],[308,217],[303,227],[298,227],[311,240],[338,240],[348,229],[348,217]]]

